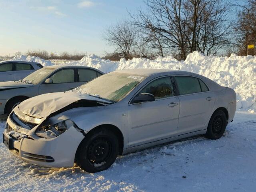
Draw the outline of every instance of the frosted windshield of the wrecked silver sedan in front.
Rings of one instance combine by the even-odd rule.
[[[146,76],[112,72],[75,88],[80,92],[112,102],[118,102],[136,87]]]

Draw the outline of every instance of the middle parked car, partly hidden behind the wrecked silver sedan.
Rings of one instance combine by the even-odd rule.
[[[0,82],[0,114],[10,114],[20,102],[45,93],[76,88],[100,75],[100,70],[85,66],[47,66],[20,81]]]

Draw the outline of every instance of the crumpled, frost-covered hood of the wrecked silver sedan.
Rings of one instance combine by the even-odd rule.
[[[108,103],[106,100],[76,92],[58,92],[35,96],[20,103],[19,110],[34,118],[44,118],[78,100]]]

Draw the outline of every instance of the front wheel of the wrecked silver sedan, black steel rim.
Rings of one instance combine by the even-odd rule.
[[[104,128],[89,132],[76,151],[76,163],[89,173],[108,169],[118,155],[117,136]]]

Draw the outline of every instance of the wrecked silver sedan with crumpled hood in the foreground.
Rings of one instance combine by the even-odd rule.
[[[76,162],[87,172],[116,157],[180,138],[220,138],[232,122],[236,93],[190,72],[138,69],[102,75],[72,91],[25,100],[7,119],[3,139],[19,158],[47,167]]]

